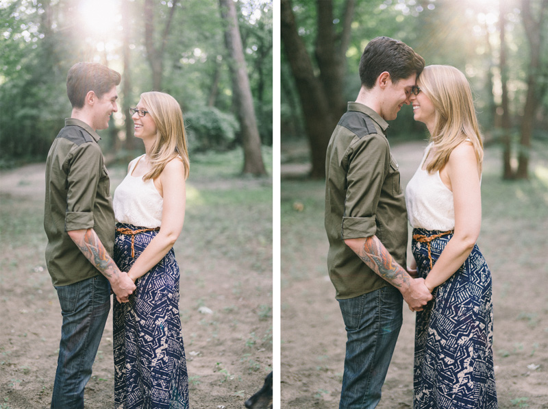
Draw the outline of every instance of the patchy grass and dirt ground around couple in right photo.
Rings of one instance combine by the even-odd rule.
[[[393,147],[402,184],[424,142]],[[299,178],[299,146],[282,158],[282,408],[338,406],[345,327],[327,277],[324,182]],[[501,152],[486,149],[479,248],[493,272],[495,377],[499,408],[548,408],[548,146],[532,150],[531,178],[501,180]],[[287,170],[284,173],[284,169]],[[284,174],[288,177],[284,178]],[[379,408],[412,407],[414,315],[404,323]]]

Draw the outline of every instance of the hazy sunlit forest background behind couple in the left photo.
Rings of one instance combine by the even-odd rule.
[[[0,166],[45,160],[71,113],[66,73],[93,61],[122,74],[119,112],[100,132],[111,160],[127,162],[142,149],[128,109],[141,92],[161,90],[183,108],[191,153],[242,147],[252,127],[254,158],[245,149],[245,162],[256,167],[242,169],[264,173],[260,146],[272,145],[272,25],[270,0],[0,0]],[[245,79],[236,75],[242,69]]]

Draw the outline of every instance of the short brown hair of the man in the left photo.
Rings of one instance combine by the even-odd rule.
[[[122,76],[116,71],[97,62],[77,62],[66,77],[66,95],[73,108],[83,108],[88,92],[93,91],[97,98],[120,84]]]

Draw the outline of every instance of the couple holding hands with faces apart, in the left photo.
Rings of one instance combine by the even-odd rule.
[[[84,408],[111,290],[114,406],[188,408],[172,249],[184,223],[189,171],[182,111],[163,92],[141,95],[131,114],[146,153],[129,163],[113,201],[96,131],[118,110],[120,81],[101,64],[71,68],[71,118],[47,157],[46,262],[63,316],[51,408]]]

